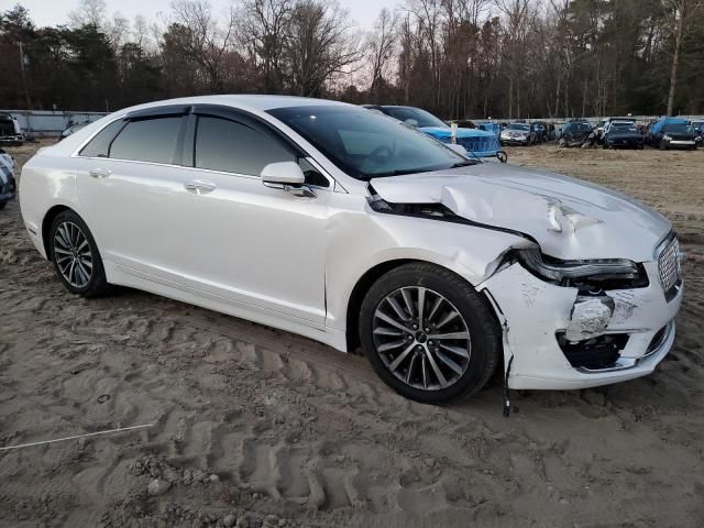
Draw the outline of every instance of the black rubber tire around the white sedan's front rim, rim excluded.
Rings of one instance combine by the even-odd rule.
[[[469,363],[462,375],[444,388],[424,389],[407,384],[389,370],[374,342],[374,320],[380,305],[385,301],[388,295],[400,288],[419,286],[439,294],[450,301],[463,318],[462,322],[466,324],[470,334]],[[432,264],[405,264],[380,277],[364,297],[360,310],[359,328],[362,350],[377,375],[398,394],[424,404],[440,404],[461,395],[475,394],[492,377],[501,363],[501,331],[484,299],[466,280],[449,270]],[[432,336],[427,336],[427,338],[431,339]],[[428,341],[428,344],[430,345],[431,341]],[[418,354],[424,355],[422,353]],[[406,373],[411,369],[413,365],[408,366]]]

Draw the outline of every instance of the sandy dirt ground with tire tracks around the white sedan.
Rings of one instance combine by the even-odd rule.
[[[24,161],[32,148],[11,150]],[[2,526],[704,525],[704,151],[514,148],[635,195],[690,260],[673,351],[647,378],[501,388],[448,407],[362,358],[133,290],[68,295],[0,212]]]

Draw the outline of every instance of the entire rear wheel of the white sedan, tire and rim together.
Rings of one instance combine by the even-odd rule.
[[[102,258],[86,222],[72,210],[56,216],[50,229],[50,258],[66,289],[82,297],[109,292]]]

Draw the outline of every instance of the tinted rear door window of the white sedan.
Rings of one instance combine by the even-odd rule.
[[[183,118],[130,121],[110,146],[109,156],[136,162],[174,163]]]

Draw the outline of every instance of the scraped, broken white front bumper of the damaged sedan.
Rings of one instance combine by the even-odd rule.
[[[481,285],[504,323],[510,388],[572,389],[650,374],[674,341],[682,285],[666,296],[657,261],[649,285],[597,295],[544,282],[519,263]]]

